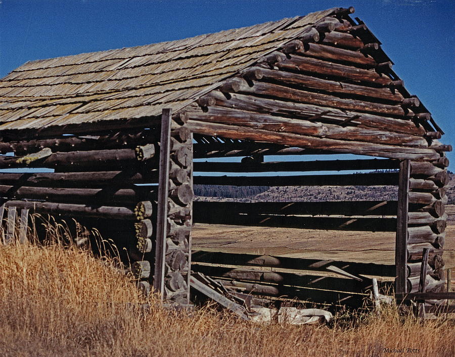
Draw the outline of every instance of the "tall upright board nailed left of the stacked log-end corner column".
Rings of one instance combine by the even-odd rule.
[[[167,200],[169,185],[169,155],[170,155],[170,131],[172,110],[165,108],[161,114],[161,139],[160,139],[160,163],[158,181],[158,211],[157,231],[155,248],[155,271],[153,275],[153,289],[163,299],[164,293],[164,263],[167,235]]]

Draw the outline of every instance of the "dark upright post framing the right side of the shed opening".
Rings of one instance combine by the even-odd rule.
[[[409,160],[400,163],[398,177],[398,207],[395,238],[395,293],[406,293],[406,250],[407,250],[407,221],[408,221],[408,192],[411,164]]]

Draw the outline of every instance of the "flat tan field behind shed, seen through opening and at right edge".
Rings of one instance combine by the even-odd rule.
[[[193,250],[394,264],[394,232],[195,224]],[[455,267],[455,225],[446,229],[444,260]]]

